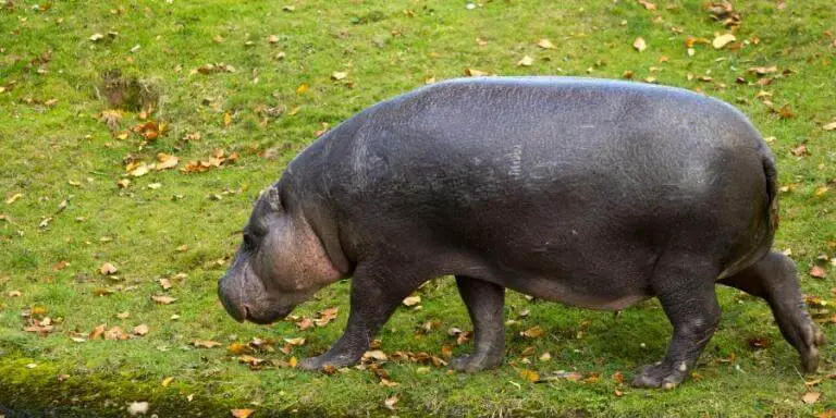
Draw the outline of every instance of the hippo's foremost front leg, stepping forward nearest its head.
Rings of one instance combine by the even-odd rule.
[[[417,287],[393,285],[394,281],[384,275],[358,267],[352,279],[351,312],[343,335],[324,354],[299,361],[300,369],[342,368],[356,364],[362,357],[380,328]]]

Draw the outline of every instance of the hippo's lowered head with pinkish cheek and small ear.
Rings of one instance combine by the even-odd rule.
[[[276,186],[261,194],[244,228],[235,260],[218,283],[226,311],[238,321],[271,323],[342,278],[302,213],[292,213]]]

